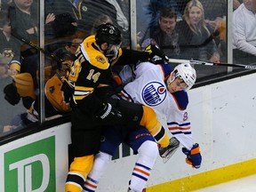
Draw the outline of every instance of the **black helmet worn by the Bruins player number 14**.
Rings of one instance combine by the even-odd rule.
[[[96,44],[120,44],[121,32],[118,28],[110,23],[101,24],[96,32]]]

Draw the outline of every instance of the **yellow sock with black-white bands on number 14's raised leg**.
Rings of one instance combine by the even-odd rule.
[[[142,108],[143,116],[140,120],[140,125],[148,129],[161,148],[166,148],[169,145],[169,137],[158,121],[155,111],[146,106],[142,106]]]

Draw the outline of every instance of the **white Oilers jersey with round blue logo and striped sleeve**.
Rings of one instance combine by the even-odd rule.
[[[184,147],[192,148],[193,140],[186,110],[188,94],[168,92],[161,65],[140,63],[135,70],[135,80],[124,86],[121,97],[153,108],[157,116],[166,116],[167,127],[172,135],[180,140]]]

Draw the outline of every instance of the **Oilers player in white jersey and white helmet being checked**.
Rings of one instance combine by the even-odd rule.
[[[202,156],[199,145],[192,140],[187,112],[187,91],[196,82],[196,70],[189,63],[180,64],[172,70],[166,64],[154,65],[142,62],[132,73],[130,72],[124,68],[120,73],[123,82],[126,81],[127,74],[134,74],[135,78],[124,86],[118,97],[154,108],[158,116],[166,116],[166,127],[174,136],[167,148],[159,149],[160,156],[168,160],[181,143],[182,152],[187,156],[186,162],[192,167],[199,168]],[[135,154],[139,154],[128,191],[141,192],[145,188],[158,156],[156,142],[154,138],[148,136],[146,129],[141,128],[139,131],[136,129],[134,132],[129,129],[116,134],[120,130],[120,128],[116,130],[111,128],[105,132],[105,139],[100,145],[100,153],[95,156],[92,171],[85,181],[84,191],[96,190],[108,162],[121,142],[127,143]]]

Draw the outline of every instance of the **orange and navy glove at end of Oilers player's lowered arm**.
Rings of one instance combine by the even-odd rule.
[[[200,168],[202,162],[202,156],[200,154],[199,145],[196,143],[189,151],[187,148],[182,148],[182,152],[187,156],[186,163],[192,165],[196,169]]]

